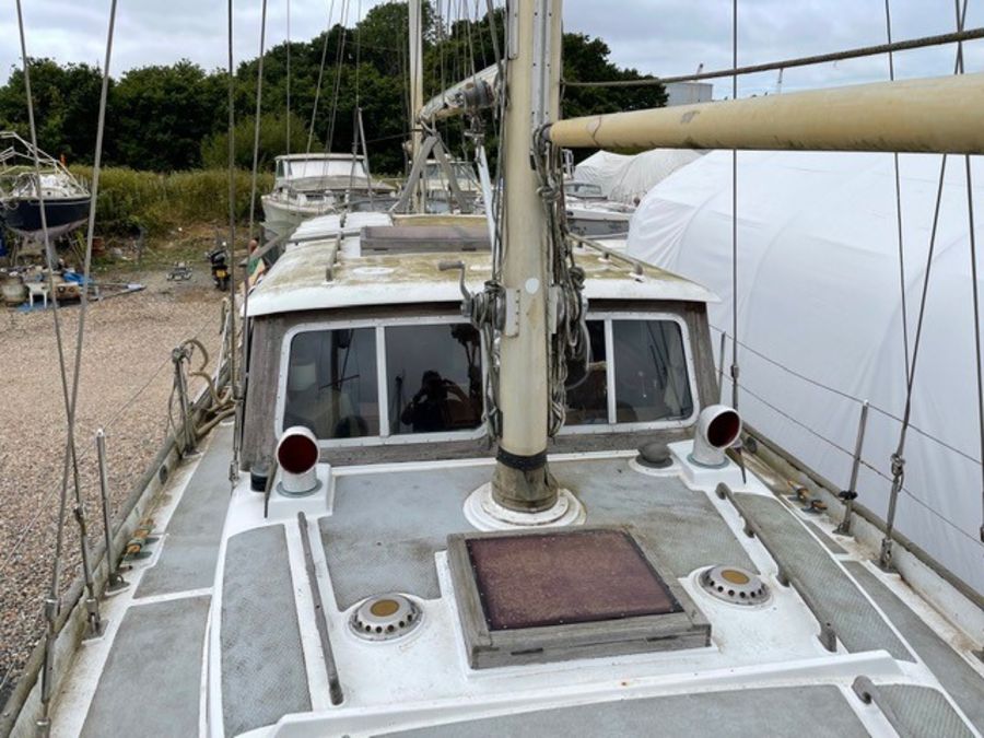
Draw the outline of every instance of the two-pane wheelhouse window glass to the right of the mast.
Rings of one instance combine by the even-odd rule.
[[[567,371],[566,425],[682,422],[693,415],[687,350],[670,319],[587,321],[591,356]]]

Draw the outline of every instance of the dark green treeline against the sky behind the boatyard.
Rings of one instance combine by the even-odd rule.
[[[494,22],[493,22],[494,21]],[[429,97],[494,62],[493,26],[504,49],[505,17],[457,21],[448,27],[425,2],[424,95]],[[623,80],[637,77],[609,60],[599,38],[564,35],[564,79]],[[290,75],[288,55],[290,54]],[[320,93],[321,58],[326,60]],[[335,25],[309,43],[280,44],[263,56],[260,117],[260,166],[269,171],[274,155],[306,151],[351,151],[356,110],[362,112],[370,164],[374,174],[405,169],[403,142],[409,138],[407,5],[380,3],[354,28]],[[253,165],[258,59],[239,65],[233,84],[236,112],[235,164]],[[38,143],[70,162],[91,163],[96,130],[99,70],[87,65],[59,66],[32,60],[32,87],[38,121]],[[337,90],[337,94],[336,94]],[[317,98],[317,110],[315,99]],[[15,71],[0,86],[0,127],[26,134],[23,73]],[[112,84],[104,161],[131,169],[180,172],[227,163],[229,74],[206,72],[187,60],[131,70]],[[290,101],[290,147],[286,142]],[[661,86],[640,89],[567,89],[565,117],[663,105]],[[313,124],[313,129],[312,129]],[[459,120],[441,124],[449,151],[466,154],[470,143]],[[487,143],[494,159],[490,128]]]

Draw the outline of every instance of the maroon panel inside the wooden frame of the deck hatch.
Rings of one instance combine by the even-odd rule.
[[[623,530],[571,530],[467,541],[493,631],[681,612]]]

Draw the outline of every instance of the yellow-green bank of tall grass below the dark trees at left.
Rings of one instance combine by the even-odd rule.
[[[71,167],[72,173],[92,177],[90,167]],[[259,196],[273,187],[273,175],[257,180],[256,214],[262,212]],[[236,220],[249,218],[250,173],[235,173]],[[130,234],[143,227],[152,235],[163,234],[189,223],[223,225],[229,221],[227,169],[196,172],[137,172],[107,167],[99,174],[96,219],[101,233]]]

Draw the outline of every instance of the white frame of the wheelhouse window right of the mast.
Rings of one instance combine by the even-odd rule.
[[[588,311],[586,320],[601,320],[605,324],[605,344],[606,344],[606,367],[605,382],[608,391],[607,423],[590,423],[584,425],[567,425],[559,431],[558,435],[586,435],[597,433],[622,433],[626,431],[661,431],[668,429],[689,427],[696,422],[698,415],[701,413],[700,393],[696,385],[696,367],[693,363],[693,344],[690,341],[690,330],[687,321],[682,316],[676,313],[648,312],[648,311],[598,311],[594,313]],[[617,360],[614,358],[614,329],[612,321],[614,320],[666,320],[677,324],[680,328],[680,340],[683,342],[683,355],[687,365],[687,385],[690,389],[690,398],[693,402],[693,411],[687,418],[677,420],[656,420],[636,423],[619,423],[616,421],[617,415],[617,398],[616,398],[616,373],[614,366]],[[484,366],[484,363],[482,364]]]

